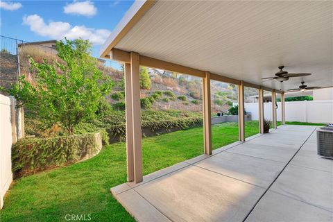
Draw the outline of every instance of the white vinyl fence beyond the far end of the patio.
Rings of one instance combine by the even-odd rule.
[[[285,102],[286,121],[305,123],[333,123],[333,100]],[[245,110],[258,120],[258,103],[245,103]],[[277,118],[281,121],[281,103],[278,103]],[[264,118],[272,119],[272,103],[264,103]]]

